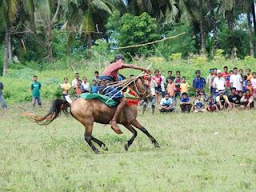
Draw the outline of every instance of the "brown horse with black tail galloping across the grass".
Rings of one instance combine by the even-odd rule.
[[[146,98],[146,96],[150,94],[150,91],[145,88],[142,78],[138,78],[136,81],[134,80],[134,83],[130,85],[130,89],[137,93],[140,98]],[[69,107],[70,111],[68,111]],[[94,122],[109,124],[110,119],[114,115],[116,107],[117,106],[106,106],[106,104],[98,101],[97,99],[85,100],[83,98],[79,98],[72,103],[66,102],[62,99],[55,99],[48,114],[46,114],[46,116],[43,118],[38,118],[36,116],[33,122],[37,122],[39,125],[48,125],[50,122],[54,121],[55,118],[58,118],[61,111],[66,114],[72,114],[75,119],[85,126],[85,140],[90,145],[91,149],[98,154],[99,151],[94,146],[93,142],[96,142],[100,147],[103,146],[103,150],[108,149],[103,142],[92,136]],[[146,128],[137,121],[137,114],[137,105],[125,106],[121,112],[121,115],[118,117],[118,123],[125,126],[133,134],[132,138],[130,138],[130,140],[126,143],[125,149],[128,150],[130,145],[134,142],[134,138],[137,136],[137,131],[134,130],[133,126],[139,130],[142,130],[142,132],[150,138],[155,147],[160,147],[158,142],[152,137],[151,134],[149,134]]]

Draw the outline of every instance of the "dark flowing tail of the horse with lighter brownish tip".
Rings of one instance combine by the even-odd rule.
[[[69,107],[70,110],[68,110]],[[72,114],[70,103],[64,99],[57,98],[52,102],[50,110],[44,117],[40,118],[35,114],[27,113],[24,113],[23,115],[25,115],[31,122],[36,122],[40,126],[46,126],[53,122],[55,118],[58,118],[62,111],[64,114]]]

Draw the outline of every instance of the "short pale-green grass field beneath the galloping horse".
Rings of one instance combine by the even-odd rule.
[[[256,190],[255,110],[154,118],[147,111],[138,120],[161,148],[138,132],[128,151],[128,130],[122,127],[124,134],[117,135],[95,124],[95,138],[109,148],[97,155],[74,118],[62,115],[38,126],[22,117],[46,114],[50,104],[43,104],[0,109],[0,191]]]

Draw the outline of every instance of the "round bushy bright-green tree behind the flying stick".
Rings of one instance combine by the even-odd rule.
[[[155,18],[143,13],[139,16],[131,14],[120,14],[116,11],[109,18],[108,24],[110,39],[113,46],[134,46],[146,42],[154,42],[161,38],[158,33]],[[138,46],[119,50],[126,56],[150,56],[154,54],[155,45]]]

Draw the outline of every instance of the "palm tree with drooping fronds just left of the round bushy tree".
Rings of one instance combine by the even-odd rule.
[[[95,31],[95,24],[100,25],[99,28],[104,28],[107,18],[113,14],[113,10],[125,8],[122,0],[78,0],[69,2],[68,10],[66,11],[67,21],[62,27],[62,30],[86,31],[87,45],[89,58],[92,58],[92,34]],[[106,30],[105,30],[106,31]],[[84,32],[82,32],[84,34]],[[68,40],[74,39],[74,34],[67,34]],[[70,45],[70,41],[68,41]]]

